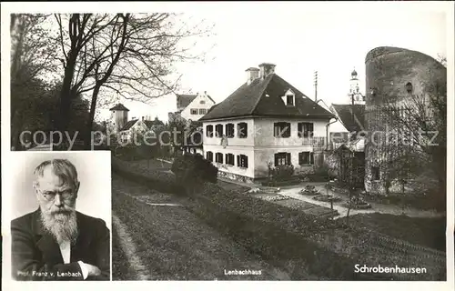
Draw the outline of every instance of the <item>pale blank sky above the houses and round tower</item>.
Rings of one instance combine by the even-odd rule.
[[[217,103],[246,82],[245,70],[273,63],[275,72],[305,95],[314,98],[318,71],[318,98],[328,105],[347,103],[350,73],[359,74],[365,93],[365,56],[381,46],[399,46],[437,57],[447,55],[446,15],[410,5],[237,4],[238,9],[200,9],[188,12],[215,25],[214,35],[198,46],[212,47],[206,63],[180,64],[179,93],[207,91]],[[318,5],[321,7],[321,5]],[[333,8],[331,8],[333,7]],[[251,9],[252,8],[252,9]],[[150,105],[122,101],[129,118],[142,115],[167,120],[176,110],[175,95],[154,99]],[[102,118],[108,116],[102,111]]]

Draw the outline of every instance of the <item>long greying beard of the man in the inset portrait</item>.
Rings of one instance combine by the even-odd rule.
[[[41,221],[45,230],[56,238],[58,244],[68,241],[72,245],[76,243],[79,234],[76,211],[71,211],[68,214],[48,214],[41,211]]]

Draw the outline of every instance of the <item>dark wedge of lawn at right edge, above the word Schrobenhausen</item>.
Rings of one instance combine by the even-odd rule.
[[[346,221],[346,217],[340,219]],[[351,216],[349,224],[403,239],[412,244],[445,251],[446,217],[418,218],[375,213]]]

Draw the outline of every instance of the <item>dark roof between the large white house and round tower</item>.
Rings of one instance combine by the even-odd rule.
[[[365,129],[365,105],[332,104],[332,107],[349,132]]]

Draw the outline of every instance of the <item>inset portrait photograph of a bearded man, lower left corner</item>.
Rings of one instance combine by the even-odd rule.
[[[107,152],[15,153],[11,266],[19,281],[110,280]]]

